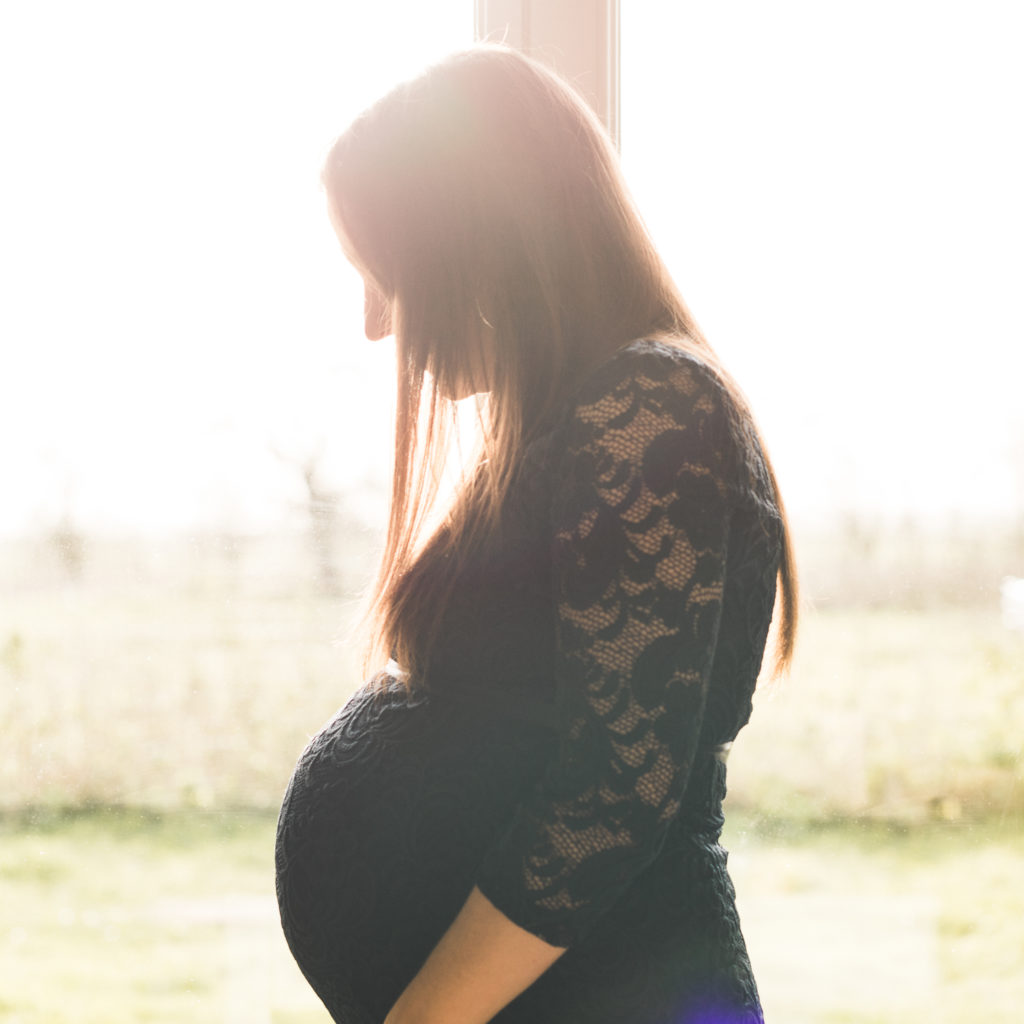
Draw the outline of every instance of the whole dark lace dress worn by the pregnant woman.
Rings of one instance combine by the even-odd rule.
[[[780,550],[757,441],[702,364],[636,342],[512,494],[430,678],[365,687],[295,769],[292,952],[335,1020],[379,1022],[475,884],[568,947],[500,1024],[755,1024],[718,839]]]

